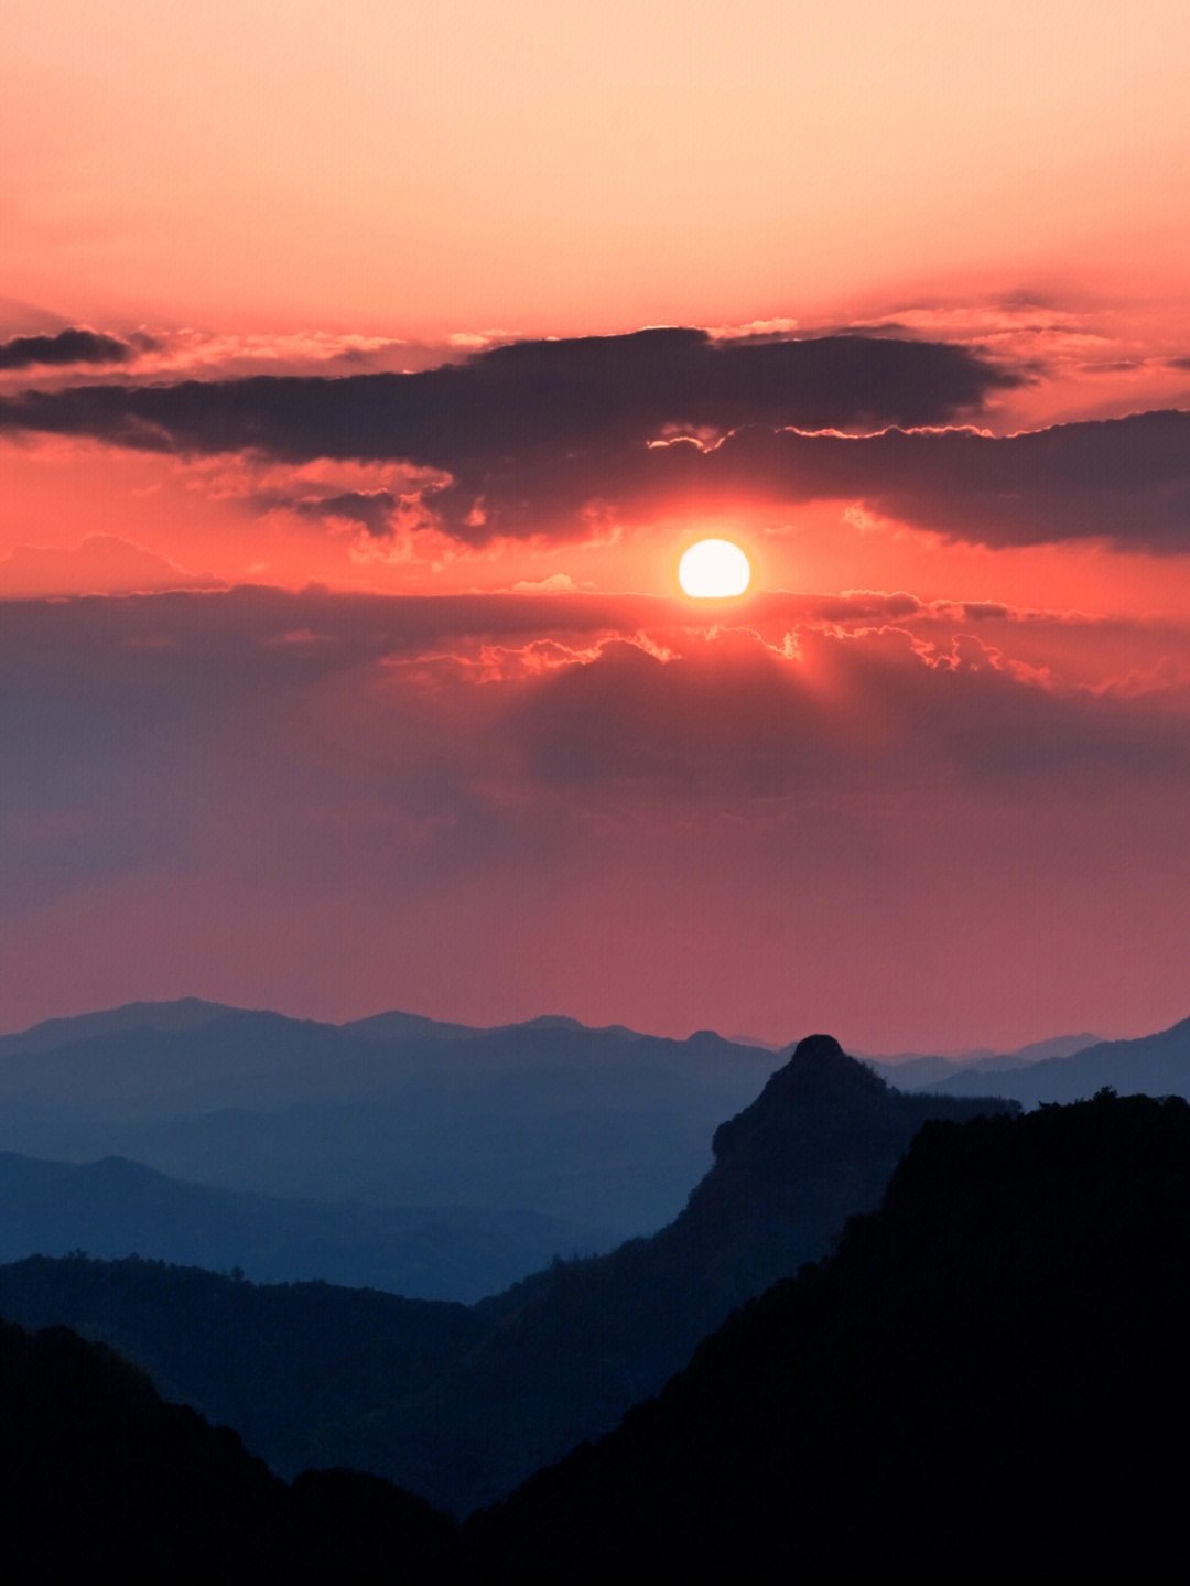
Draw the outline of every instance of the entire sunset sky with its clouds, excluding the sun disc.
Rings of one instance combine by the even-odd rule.
[[[0,1028],[1187,1017],[1187,46],[17,0]]]

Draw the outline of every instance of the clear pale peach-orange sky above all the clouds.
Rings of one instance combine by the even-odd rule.
[[[1179,3],[10,10],[5,293],[441,338],[1180,297]],[[929,279],[924,276],[929,271]]]

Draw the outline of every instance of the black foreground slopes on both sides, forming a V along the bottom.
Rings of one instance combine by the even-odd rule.
[[[71,1578],[1180,1578],[1188,1250],[1180,1099],[927,1123],[835,1255],[463,1527],[350,1472],[287,1486],[101,1345],[0,1324],[5,1559]]]

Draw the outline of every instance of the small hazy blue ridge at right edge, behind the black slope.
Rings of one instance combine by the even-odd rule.
[[[970,1096],[987,1085],[987,1072],[955,1074],[929,1090]],[[1100,1040],[1071,1056],[1054,1056],[1022,1069],[998,1072],[992,1085],[998,1096],[1009,1096],[1024,1107],[1049,1101],[1085,1101],[1104,1086],[1122,1096],[1190,1098],[1190,1018],[1155,1036]]]

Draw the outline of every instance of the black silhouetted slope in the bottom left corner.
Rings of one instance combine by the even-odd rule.
[[[441,1580],[458,1534],[350,1472],[287,1488],[235,1432],[163,1404],[149,1378],[65,1327],[0,1323],[0,1472],[10,1580]]]

